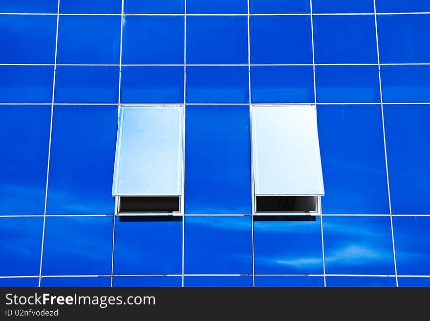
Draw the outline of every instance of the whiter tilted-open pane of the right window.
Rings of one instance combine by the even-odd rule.
[[[313,105],[253,106],[256,195],[323,195],[317,111]]]

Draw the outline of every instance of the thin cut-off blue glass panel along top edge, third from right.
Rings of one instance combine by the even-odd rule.
[[[250,13],[309,13],[308,0],[249,0]]]

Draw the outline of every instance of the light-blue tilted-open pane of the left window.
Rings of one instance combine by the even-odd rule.
[[[121,107],[112,195],[181,195],[184,108]]]

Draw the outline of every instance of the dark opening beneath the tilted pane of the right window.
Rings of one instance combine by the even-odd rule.
[[[257,196],[257,212],[317,212],[316,196]]]

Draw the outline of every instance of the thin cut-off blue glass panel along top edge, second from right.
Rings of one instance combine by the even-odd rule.
[[[373,13],[373,0],[312,0],[313,13]],[[375,18],[373,31],[375,31]],[[337,31],[340,31],[339,28]]]

